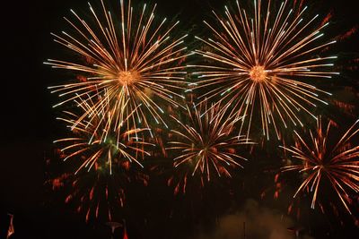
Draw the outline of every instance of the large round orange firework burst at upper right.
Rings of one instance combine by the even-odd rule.
[[[254,15],[241,9],[232,13],[225,6],[226,18],[217,15],[219,27],[207,23],[215,38],[199,38],[211,50],[196,50],[209,64],[188,65],[200,67],[194,73],[198,76],[195,89],[214,87],[202,94],[202,100],[215,100],[218,104],[232,106],[232,114],[242,116],[241,132],[250,135],[256,115],[260,115],[263,135],[269,138],[269,126],[273,125],[277,138],[280,138],[278,123],[303,125],[299,112],[304,111],[312,117],[310,107],[316,102],[328,104],[319,98],[318,90],[311,84],[313,78],[331,78],[338,73],[329,72],[328,63],[337,56],[315,56],[318,51],[336,41],[320,41],[328,22],[312,27],[318,15],[303,20],[307,9],[293,14],[287,1],[277,12],[271,12],[271,3],[263,6],[254,0]],[[212,63],[211,63],[212,62]]]

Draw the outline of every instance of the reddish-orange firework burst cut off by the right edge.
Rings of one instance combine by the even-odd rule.
[[[313,192],[311,208],[314,209],[320,184],[323,184],[323,180],[328,180],[346,210],[351,213],[348,207],[351,200],[347,189],[355,193],[359,192],[359,145],[357,141],[356,144],[352,141],[358,135],[358,123],[359,120],[336,143],[332,143],[334,135],[329,133],[334,123],[329,121],[327,127],[322,128],[320,117],[316,132],[310,131],[311,141],[305,141],[298,132],[295,132],[296,145],[283,148],[301,162],[298,165],[282,168],[283,171],[299,171],[304,176],[294,197],[299,192],[310,190]]]

